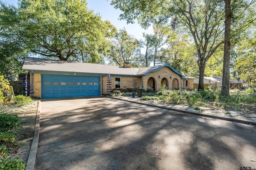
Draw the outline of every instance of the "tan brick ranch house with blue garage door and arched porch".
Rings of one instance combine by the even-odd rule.
[[[56,61],[27,57],[23,70],[30,73],[31,88],[39,98],[100,96],[108,94],[108,77],[114,88],[160,90],[193,88],[193,79],[186,78],[168,64],[146,68],[131,68],[104,64]]]

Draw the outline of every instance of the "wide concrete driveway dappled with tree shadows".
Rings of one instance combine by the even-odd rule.
[[[256,168],[256,127],[115,100],[42,100],[35,169]]]

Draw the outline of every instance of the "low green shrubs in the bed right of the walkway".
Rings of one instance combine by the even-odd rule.
[[[157,100],[169,104],[183,104],[188,106],[216,107],[233,109],[253,113],[256,111],[256,97],[250,95],[253,90],[236,91],[234,95],[220,97],[220,89],[209,87],[206,90],[166,90],[162,88],[156,95],[145,96],[140,100]]]

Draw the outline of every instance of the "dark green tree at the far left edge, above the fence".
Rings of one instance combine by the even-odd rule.
[[[0,1],[0,72],[8,80],[18,78],[26,54],[26,49],[14,31],[17,21],[14,6],[6,6]]]

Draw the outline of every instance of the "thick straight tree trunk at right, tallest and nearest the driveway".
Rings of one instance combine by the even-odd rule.
[[[222,86],[220,96],[229,96],[229,69],[230,69],[230,27],[231,27],[231,0],[224,0],[225,2],[225,34],[224,34],[224,56],[223,56],[223,73]]]

